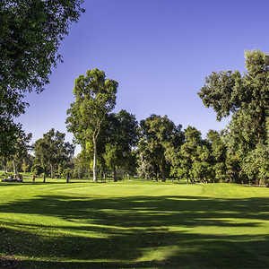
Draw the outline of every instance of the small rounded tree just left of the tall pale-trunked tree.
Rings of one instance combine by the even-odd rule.
[[[65,164],[68,167],[68,161],[71,161],[74,155],[74,145],[65,142],[65,134],[52,128],[48,133],[43,134],[34,144],[35,163],[39,164],[44,171],[44,182],[46,174],[50,171],[51,178],[54,177],[54,171],[60,165]]]

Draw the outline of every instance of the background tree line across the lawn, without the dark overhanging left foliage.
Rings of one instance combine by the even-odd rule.
[[[66,169],[74,178],[92,173],[94,181],[111,174],[115,181],[137,175],[162,181],[265,184],[269,171],[267,66],[265,54],[252,51],[246,53],[246,74],[213,72],[206,77],[198,92],[204,105],[216,111],[218,120],[232,116],[221,132],[209,130],[204,138],[195,126],[183,129],[167,116],[151,115],[138,123],[126,110],[113,113],[117,82],[99,69],[88,70],[75,80],[74,102],[66,118],[67,129],[82,152],[74,158],[74,145],[65,142],[65,134],[51,129],[33,144],[28,169],[39,169],[44,177],[66,174]],[[18,163],[25,169],[30,166],[30,134],[21,134],[15,147],[25,153],[13,154],[12,166]]]

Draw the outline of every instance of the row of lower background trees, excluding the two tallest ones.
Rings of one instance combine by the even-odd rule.
[[[136,121],[126,110],[110,113],[100,130],[97,178],[114,181],[138,176],[166,181],[184,178],[189,183],[233,182],[266,184],[268,150],[258,144],[255,152],[240,161],[230,152],[228,128],[209,130],[206,138],[194,126],[176,126],[169,117],[152,115]],[[31,134],[17,143],[18,152],[0,158],[5,171],[32,172],[51,178],[91,178],[93,149],[88,144],[74,157],[74,144],[53,128],[30,145]],[[34,155],[30,154],[30,151]]]

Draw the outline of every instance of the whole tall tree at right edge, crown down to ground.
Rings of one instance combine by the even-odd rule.
[[[232,181],[243,182],[243,160],[257,144],[269,143],[269,73],[265,53],[254,50],[246,54],[246,74],[239,71],[213,72],[198,93],[206,107],[217,113],[217,119],[231,121],[225,130],[227,172]],[[267,122],[267,123],[266,123]]]

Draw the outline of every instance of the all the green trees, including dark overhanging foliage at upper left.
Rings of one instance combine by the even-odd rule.
[[[246,52],[246,72],[213,72],[198,92],[217,120],[231,117],[221,132],[206,137],[194,126],[183,130],[167,116],[137,122],[126,110],[113,113],[117,82],[98,69],[75,80],[74,102],[67,110],[67,130],[74,144],[51,129],[34,144],[15,118],[29,106],[27,92],[41,92],[52,68],[62,61],[58,48],[70,25],[84,10],[82,0],[2,1],[0,3],[0,161],[3,169],[74,174],[93,180],[122,175],[190,182],[265,184],[269,170],[268,56]],[[31,153],[30,153],[31,151]],[[64,173],[65,171],[65,173]]]

